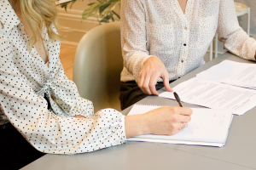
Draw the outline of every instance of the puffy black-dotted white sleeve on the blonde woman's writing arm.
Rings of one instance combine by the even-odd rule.
[[[77,154],[125,143],[125,116],[119,111],[106,109],[90,118],[61,117],[49,111],[44,97],[35,94],[15,67],[7,42],[0,43],[0,102],[9,122],[34,148]]]

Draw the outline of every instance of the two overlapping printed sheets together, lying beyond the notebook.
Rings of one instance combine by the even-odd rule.
[[[183,102],[212,109],[231,109],[235,115],[243,115],[256,105],[255,71],[256,66],[252,64],[224,61],[178,84],[173,90]],[[171,92],[164,92],[160,97],[175,99]]]

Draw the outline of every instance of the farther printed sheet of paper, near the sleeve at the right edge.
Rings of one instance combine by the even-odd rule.
[[[256,89],[256,65],[224,60],[196,77]]]

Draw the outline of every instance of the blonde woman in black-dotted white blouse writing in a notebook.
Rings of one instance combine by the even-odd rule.
[[[175,134],[190,121],[192,111],[179,107],[94,114],[64,74],[56,14],[53,0],[0,0],[1,169],[23,167],[44,153],[78,154],[140,134]]]

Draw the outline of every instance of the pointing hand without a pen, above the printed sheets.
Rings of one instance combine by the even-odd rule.
[[[144,94],[159,95],[155,89],[155,84],[159,77],[163,79],[166,90],[172,92],[173,90],[169,85],[169,74],[166,71],[166,66],[158,57],[152,56],[144,62],[143,69],[138,79],[138,87],[142,89]]]

